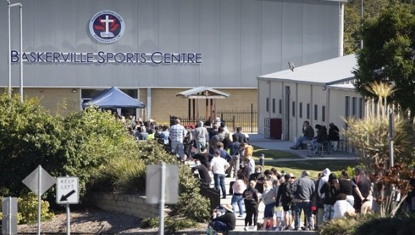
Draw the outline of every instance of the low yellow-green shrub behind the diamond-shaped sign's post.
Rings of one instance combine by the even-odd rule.
[[[2,198],[0,197],[0,201]],[[52,219],[55,214],[49,211],[49,203],[42,200],[40,203],[40,216],[42,221]],[[1,210],[1,207],[0,207]],[[0,220],[3,218],[3,214],[0,212]],[[26,224],[34,223],[37,221],[37,196],[36,194],[29,193],[22,198],[17,198],[17,223]]]

